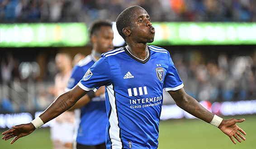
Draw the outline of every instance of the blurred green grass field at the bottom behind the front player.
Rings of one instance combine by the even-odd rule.
[[[232,117],[246,119],[238,124],[247,132],[242,143],[233,144],[227,135],[204,121],[179,119],[160,122],[158,149],[256,149],[256,115]],[[52,149],[49,128],[40,128],[14,144],[10,141],[0,140],[0,149]]]

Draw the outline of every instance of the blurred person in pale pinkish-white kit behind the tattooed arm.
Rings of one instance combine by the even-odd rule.
[[[65,93],[68,79],[72,72],[72,59],[67,53],[58,53],[55,56],[57,69],[60,71],[55,76],[54,87],[49,88],[49,93],[55,98]],[[64,112],[55,119],[50,128],[51,140],[54,149],[72,149],[72,134],[74,128],[74,112]]]

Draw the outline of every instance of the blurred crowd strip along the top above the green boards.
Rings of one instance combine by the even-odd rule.
[[[256,0],[0,0],[1,23],[115,21],[140,5],[152,21],[255,22]]]

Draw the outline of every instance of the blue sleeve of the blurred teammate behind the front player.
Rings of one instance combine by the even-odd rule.
[[[72,70],[71,78],[68,80],[68,90],[74,88],[84,75],[85,71],[80,66],[76,65]]]

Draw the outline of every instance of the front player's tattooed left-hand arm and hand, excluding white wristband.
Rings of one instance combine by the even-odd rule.
[[[43,124],[54,119],[55,117],[61,115],[63,112],[72,107],[78,99],[84,96],[87,91],[81,89],[78,85],[72,88],[70,91],[63,93],[54,102],[39,116],[39,120],[43,121]],[[33,123],[34,124],[34,123]],[[10,138],[15,137],[11,144],[13,144],[19,138],[31,134],[36,128],[31,122],[28,124],[21,124],[13,126],[12,129],[9,129],[3,132],[3,140],[9,140]]]

